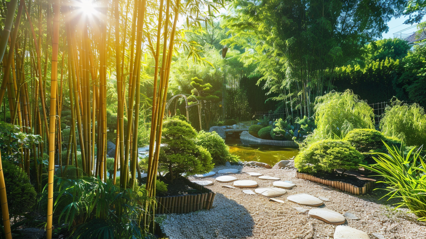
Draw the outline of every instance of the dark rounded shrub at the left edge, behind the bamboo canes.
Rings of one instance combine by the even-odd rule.
[[[6,160],[2,161],[2,166],[9,215],[13,217],[30,212],[37,201],[37,193],[30,184],[26,172]]]

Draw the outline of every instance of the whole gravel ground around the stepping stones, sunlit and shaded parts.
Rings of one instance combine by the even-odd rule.
[[[215,167],[217,172],[224,166]],[[242,166],[242,172],[259,172],[264,175],[293,181],[297,187],[287,190],[285,195],[276,197],[285,204],[269,201],[263,195],[247,195],[242,189],[223,188],[212,179],[220,175],[201,180],[214,181],[211,190],[216,192],[211,210],[201,210],[187,214],[167,214],[162,223],[163,231],[170,239],[331,239],[335,225],[326,224],[308,216],[308,212],[299,213],[294,207],[305,207],[288,201],[289,195],[308,193],[316,197],[329,198],[325,207],[338,213],[354,213],[360,220],[347,219],[344,225],[363,230],[370,234],[381,233],[386,239],[426,239],[426,223],[416,221],[416,216],[406,213],[406,209],[391,210],[389,202],[377,201],[378,191],[363,196],[355,196],[331,187],[296,178],[291,169],[264,169]],[[246,173],[231,174],[240,180],[255,180],[258,187],[273,187],[272,180],[262,180]],[[193,178],[190,178],[194,180]],[[253,189],[254,191],[254,189]],[[379,197],[380,198],[380,197]]]

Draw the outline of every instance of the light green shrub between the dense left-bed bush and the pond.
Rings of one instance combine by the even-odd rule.
[[[227,161],[237,161],[236,157],[230,154],[229,147],[225,144],[225,140],[215,131],[211,133],[203,130],[199,131],[196,144],[207,149],[214,164],[225,164]]]

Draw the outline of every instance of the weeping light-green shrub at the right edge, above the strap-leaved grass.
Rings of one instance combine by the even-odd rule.
[[[380,120],[380,130],[385,136],[400,138],[407,146],[426,143],[426,115],[418,104],[403,104],[399,100],[386,106]]]

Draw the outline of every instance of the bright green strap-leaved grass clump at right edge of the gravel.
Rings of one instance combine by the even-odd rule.
[[[388,154],[376,153],[373,159],[376,161],[371,166],[364,168],[376,172],[383,179],[376,183],[388,185],[384,190],[388,191],[384,197],[399,198],[397,207],[408,207],[418,216],[418,220],[426,221],[426,160],[421,156],[422,147],[412,148],[406,155],[401,149],[389,147],[384,143]]]

